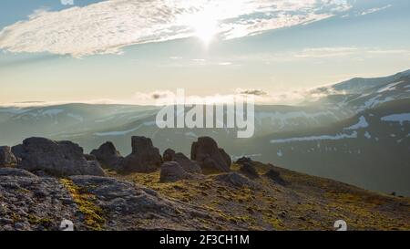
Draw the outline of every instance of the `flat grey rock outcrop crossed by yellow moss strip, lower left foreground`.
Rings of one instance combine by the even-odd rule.
[[[198,218],[210,219],[210,213],[133,182],[0,169],[0,231],[57,231],[63,220],[80,231],[203,230]]]

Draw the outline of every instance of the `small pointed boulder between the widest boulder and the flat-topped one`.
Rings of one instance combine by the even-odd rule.
[[[102,144],[97,150],[92,150],[91,155],[97,158],[104,168],[117,170],[124,158],[110,141]]]

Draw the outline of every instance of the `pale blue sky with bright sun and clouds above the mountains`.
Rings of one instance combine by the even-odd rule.
[[[410,68],[408,0],[3,0],[0,104],[151,104],[309,88]]]

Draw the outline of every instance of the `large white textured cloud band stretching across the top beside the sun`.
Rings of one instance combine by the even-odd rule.
[[[108,0],[62,11],[39,10],[0,32],[0,48],[84,57],[197,34],[215,22],[222,39],[251,36],[337,15],[345,0]]]

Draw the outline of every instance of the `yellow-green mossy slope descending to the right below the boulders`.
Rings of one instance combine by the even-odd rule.
[[[410,200],[366,192],[341,182],[313,177],[270,164],[257,163],[262,175],[274,168],[289,185],[261,177],[259,187],[234,187],[217,182],[215,174],[196,180],[159,182],[159,171],[111,176],[145,185],[169,199],[208,211],[223,225],[206,218],[204,227],[218,230],[333,230],[344,220],[351,230],[410,230]],[[232,165],[232,171],[240,166]]]

